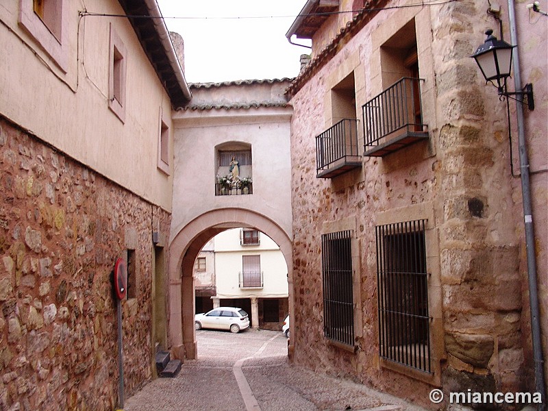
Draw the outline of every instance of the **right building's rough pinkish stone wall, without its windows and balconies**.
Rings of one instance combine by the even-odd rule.
[[[486,24],[482,7],[451,3],[432,14],[409,10],[379,14],[356,36],[345,39],[334,58],[290,100],[294,108],[293,358],[317,371],[366,382],[424,406],[432,406],[428,393],[433,386],[447,392],[534,391],[525,334],[530,325],[523,315],[527,306],[523,212],[519,188],[510,175],[506,107],[490,103],[493,99],[486,95],[490,90],[469,58],[483,40],[473,28]],[[383,24],[384,18],[390,18],[389,25]],[[359,55],[359,64],[353,66],[359,110],[379,90],[375,75],[379,62],[371,57],[378,43],[382,45],[379,38],[389,38],[390,30],[394,33],[410,18],[415,18],[419,66],[427,87],[423,114],[429,142],[382,159],[365,158],[360,171],[316,178],[314,137],[331,125],[326,121],[330,111],[325,96],[336,84],[334,79],[345,78],[342,70]],[[426,99],[425,93],[432,94]],[[490,116],[493,120],[488,120]],[[386,366],[378,354],[375,225],[390,215],[412,220],[417,210],[429,221],[427,269],[434,291],[429,295],[434,367],[430,379]],[[356,332],[356,354],[330,345],[323,336],[321,233],[326,221],[344,219],[356,219],[360,250],[359,264],[353,267],[360,273],[360,310],[355,315],[362,323]]]

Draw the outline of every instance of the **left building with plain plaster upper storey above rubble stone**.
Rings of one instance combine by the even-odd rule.
[[[167,343],[171,110],[190,90],[155,0],[90,10],[0,6],[2,410],[119,405],[118,258],[126,395]]]

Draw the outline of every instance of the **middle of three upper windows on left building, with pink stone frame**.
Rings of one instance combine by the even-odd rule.
[[[108,106],[122,122],[125,121],[126,55],[127,50],[111,23]]]

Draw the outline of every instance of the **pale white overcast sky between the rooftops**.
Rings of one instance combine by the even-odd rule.
[[[299,57],[310,49],[290,45],[286,32],[305,3],[158,0],[167,28],[184,39],[189,83],[297,76]],[[294,41],[310,45],[310,40]]]

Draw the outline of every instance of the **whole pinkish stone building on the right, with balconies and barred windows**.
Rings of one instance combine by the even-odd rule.
[[[433,388],[537,391],[516,103],[509,144],[506,102],[470,58],[488,27],[508,41],[509,14],[487,1],[308,0],[290,27],[288,40],[312,40],[287,91],[296,364],[433,408]],[[516,4],[514,53],[537,103],[524,125],[546,357],[540,18]]]

